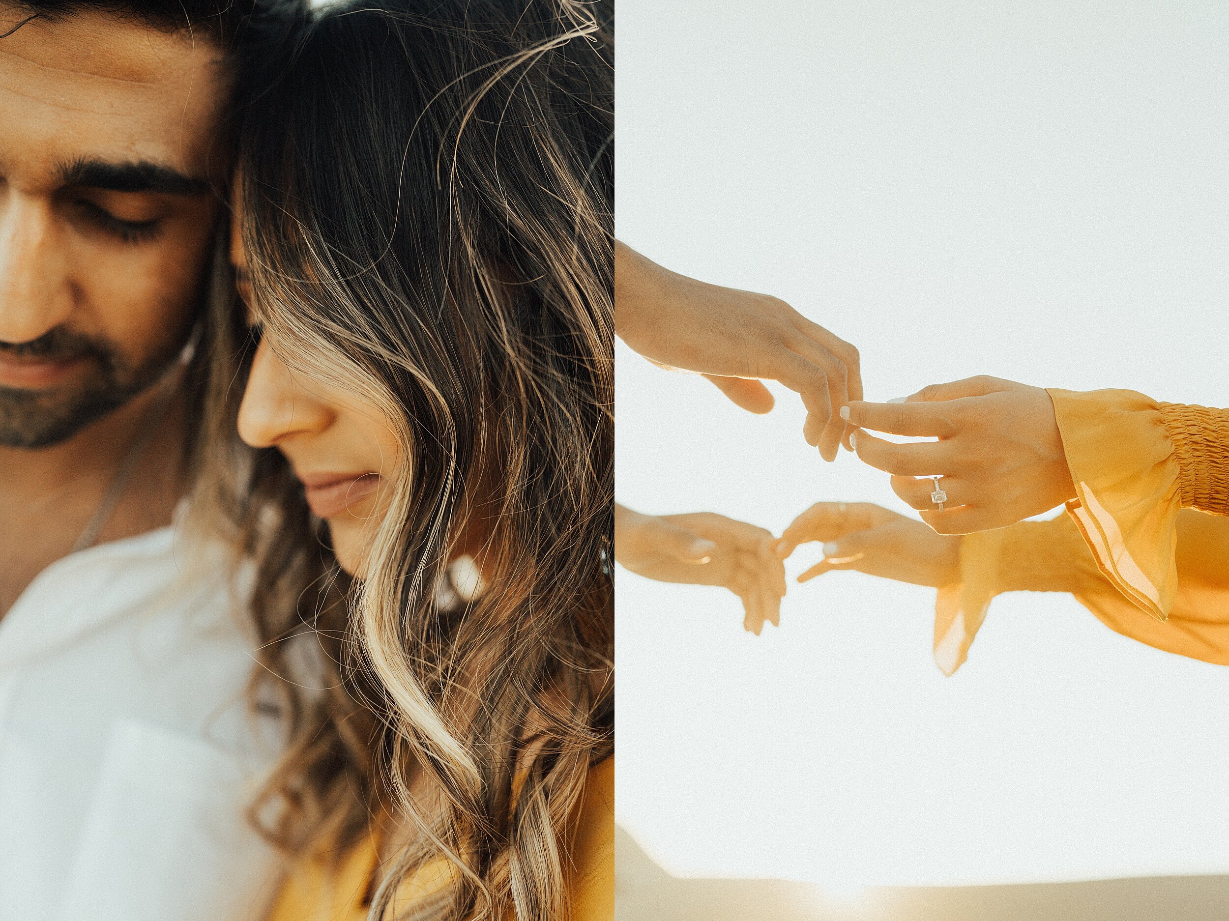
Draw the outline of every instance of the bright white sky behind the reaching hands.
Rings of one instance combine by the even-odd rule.
[[[857,344],[868,397],[973,373],[1229,405],[1229,6],[619,0],[618,233]],[[906,511],[619,344],[617,491],[780,529]],[[817,558],[791,562],[791,575]],[[780,630],[618,575],[618,817],[667,868],[830,884],[1229,872],[1229,669],[1066,596],[950,679],[933,592],[793,583]]]

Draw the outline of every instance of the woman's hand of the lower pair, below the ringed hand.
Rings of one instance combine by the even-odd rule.
[[[794,518],[777,548],[782,559],[811,540],[823,542],[825,559],[799,582],[828,570],[857,570],[916,586],[960,581],[960,538],[935,534],[919,521],[870,502],[817,502]]]

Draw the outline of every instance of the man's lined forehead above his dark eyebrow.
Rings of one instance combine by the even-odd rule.
[[[28,16],[0,4],[0,34]],[[92,11],[36,17],[0,38],[0,161],[88,156],[199,173],[226,96],[221,58],[200,34]]]

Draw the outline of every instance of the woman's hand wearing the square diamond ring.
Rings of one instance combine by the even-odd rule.
[[[857,426],[939,441],[895,445],[855,432],[858,457],[892,475],[892,490],[940,534],[1014,524],[1068,499],[1075,486],[1050,394],[995,377],[935,384],[905,403],[849,404]],[[943,511],[930,501],[941,476]]]

